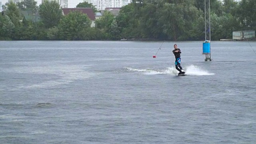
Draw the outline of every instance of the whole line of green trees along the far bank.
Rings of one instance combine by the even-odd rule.
[[[132,0],[118,16],[109,11],[95,20],[79,11],[63,16],[56,1],[8,2],[0,14],[0,40],[204,40],[204,0]],[[87,2],[77,8],[92,8]],[[26,20],[21,10],[39,14]],[[211,39],[232,38],[237,30],[256,30],[256,1],[211,0]]]

